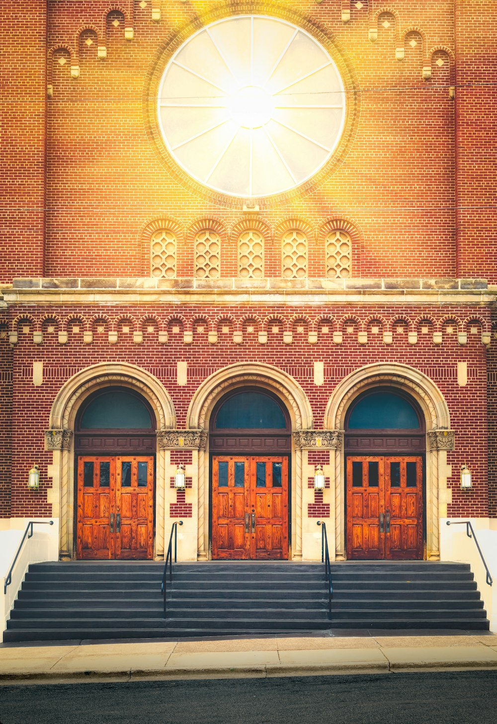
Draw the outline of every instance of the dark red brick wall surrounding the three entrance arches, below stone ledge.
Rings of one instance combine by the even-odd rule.
[[[67,308],[50,308],[50,313],[65,319],[69,313],[75,310]],[[285,345],[282,342],[283,325],[293,317],[308,310],[299,308],[268,308],[266,314],[274,314],[279,323],[279,332],[269,332],[268,343],[260,345],[257,341],[257,326],[254,332],[245,333],[242,345],[235,345],[232,342],[233,324],[228,324],[230,332],[224,333],[219,329],[219,342],[217,345],[209,345],[207,340],[208,329],[204,323],[204,331],[194,332],[192,345],[184,345],[182,342],[182,327],[178,324],[180,331],[171,332],[169,342],[166,345],[158,343],[157,332],[147,332],[145,325],[144,341],[137,345],[132,342],[132,333],[119,334],[119,340],[115,345],[109,345],[107,341],[108,321],[116,319],[121,313],[132,314],[140,318],[145,314],[143,308],[99,308],[102,321],[93,325],[93,343],[85,345],[82,343],[83,324],[80,324],[79,334],[69,332],[67,345],[59,345],[57,342],[56,321],[44,324],[44,336],[42,345],[33,345],[30,333],[20,333],[20,342],[14,349],[14,420],[13,420],[13,470],[12,470],[12,514],[25,515],[48,514],[49,508],[46,505],[46,466],[51,463],[51,453],[43,452],[43,430],[48,426],[48,415],[51,404],[60,390],[62,384],[80,369],[98,362],[119,361],[136,364],[147,369],[163,382],[166,390],[174,403],[177,411],[177,424],[179,428],[184,426],[190,400],[197,390],[197,387],[206,376],[213,374],[226,365],[242,361],[259,361],[279,367],[291,374],[300,383],[313,409],[315,426],[320,428],[323,425],[323,415],[326,403],[333,392],[334,387],[347,374],[366,364],[378,361],[401,362],[413,366],[415,369],[428,375],[437,384],[443,393],[451,414],[451,427],[456,430],[456,450],[449,452],[448,461],[453,466],[454,475],[449,481],[453,488],[453,502],[449,506],[449,515],[488,515],[488,487],[487,487],[487,370],[486,370],[486,349],[480,340],[480,327],[475,323],[477,334],[468,334],[467,345],[462,346],[457,342],[455,328],[452,333],[447,331],[448,325],[443,333],[443,344],[433,345],[430,333],[422,333],[420,329],[419,341],[416,345],[409,345],[407,331],[404,322],[394,324],[394,343],[384,345],[382,342],[381,329],[377,334],[370,333],[368,345],[360,345],[357,341],[357,327],[352,324],[353,332],[347,332],[348,324],[344,325],[344,342],[341,345],[333,344],[331,327],[328,332],[320,333],[320,344],[318,347],[307,343],[306,323],[302,323],[303,332],[294,329],[294,342],[292,345]],[[320,313],[325,310],[320,309]],[[19,310],[12,308],[12,317],[17,316]],[[81,310],[90,317],[93,309]],[[185,319],[191,319],[202,311],[198,308],[182,308]],[[232,319],[240,319],[247,309],[245,308],[208,308],[204,310],[208,319],[215,319],[221,313],[229,313]],[[47,309],[39,309],[35,312],[35,323],[48,313]],[[162,324],[170,314],[174,314],[173,308],[152,308],[147,307],[146,313],[155,316]],[[333,313],[336,319],[347,319],[351,314],[356,314],[360,319],[375,313],[382,316],[384,321],[393,319],[398,314],[404,315],[407,319],[422,318],[424,314],[431,314],[436,321],[442,318],[441,311],[409,307],[404,309],[354,309],[347,307],[335,307]],[[454,316],[459,319],[466,319],[471,316],[469,308],[443,308],[443,316]],[[482,310],[483,321],[488,312]],[[106,322],[107,319],[107,322]],[[55,331],[48,332],[48,324],[54,324]],[[101,325],[103,332],[98,332]],[[23,326],[23,325],[22,325]],[[170,325],[170,329],[173,325]],[[420,325],[421,327],[421,325]],[[470,325],[470,329],[473,325]],[[398,333],[396,329],[404,329]],[[245,327],[246,329],[246,327]],[[495,342],[494,342],[495,343]],[[188,363],[187,384],[177,384],[177,361],[183,360]],[[325,384],[316,386],[313,382],[313,362],[324,361]],[[44,362],[44,382],[41,387],[33,386],[33,361]],[[457,362],[467,361],[468,384],[459,387],[457,384]],[[33,455],[35,456],[33,458]],[[25,478],[27,470],[33,462],[41,463],[41,491],[37,494],[27,492]],[[475,489],[470,494],[462,495],[459,489],[459,468],[465,463],[470,466],[475,481]]]

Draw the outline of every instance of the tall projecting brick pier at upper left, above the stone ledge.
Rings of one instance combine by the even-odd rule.
[[[46,0],[4,0],[0,28],[0,283],[43,275]]]

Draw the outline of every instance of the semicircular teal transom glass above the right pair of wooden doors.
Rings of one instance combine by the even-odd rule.
[[[406,397],[378,390],[360,397],[349,412],[349,430],[420,430],[420,416]]]

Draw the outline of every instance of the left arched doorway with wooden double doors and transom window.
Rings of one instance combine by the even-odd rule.
[[[156,418],[142,395],[103,387],[80,407],[75,429],[76,555],[153,557]]]

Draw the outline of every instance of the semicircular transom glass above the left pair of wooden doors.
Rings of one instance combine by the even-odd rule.
[[[81,429],[150,430],[152,420],[143,402],[122,390],[104,392],[83,413]]]

